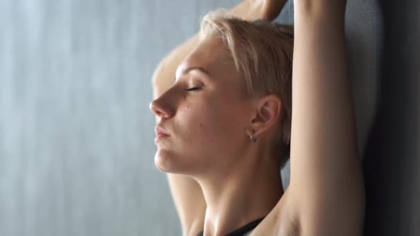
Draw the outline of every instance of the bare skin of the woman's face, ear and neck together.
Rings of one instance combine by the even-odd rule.
[[[204,232],[211,235],[264,217],[283,195],[279,159],[269,148],[281,101],[275,95],[244,98],[238,92],[240,74],[223,48],[220,39],[200,43],[178,66],[175,84],[151,104],[171,135],[156,142],[155,166],[200,184],[207,203]],[[209,75],[200,70],[183,75],[191,66]],[[251,132],[258,137],[254,144]]]

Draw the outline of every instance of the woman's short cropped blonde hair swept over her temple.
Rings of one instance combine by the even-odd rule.
[[[258,19],[245,21],[218,9],[206,14],[200,41],[222,38],[244,77],[245,95],[278,95],[282,101],[282,124],[276,145],[289,154],[292,126],[293,26]],[[280,161],[283,167],[287,158]]]

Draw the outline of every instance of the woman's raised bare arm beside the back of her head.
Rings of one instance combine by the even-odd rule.
[[[289,196],[300,235],[361,235],[364,185],[347,72],[345,0],[294,0]]]

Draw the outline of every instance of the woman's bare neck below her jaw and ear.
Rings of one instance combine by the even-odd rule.
[[[278,161],[267,155],[255,155],[257,150],[249,153],[229,171],[195,178],[207,203],[204,235],[226,235],[265,217],[283,195]]]

